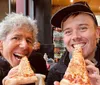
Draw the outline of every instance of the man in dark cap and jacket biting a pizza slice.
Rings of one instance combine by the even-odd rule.
[[[88,4],[81,1],[61,9],[52,17],[51,24],[63,30],[63,41],[67,50],[58,64],[50,70],[47,85],[61,81],[76,44],[82,47],[91,85],[100,85],[99,28]],[[59,85],[59,82],[55,82],[55,85]]]

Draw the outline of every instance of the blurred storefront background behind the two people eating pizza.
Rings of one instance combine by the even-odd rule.
[[[17,12],[37,20],[40,52],[58,61],[64,50],[62,30],[53,27],[51,16],[64,6],[86,1],[95,13],[100,26],[100,0],[0,0],[0,21],[7,13]]]

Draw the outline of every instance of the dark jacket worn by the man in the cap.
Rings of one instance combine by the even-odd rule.
[[[100,70],[100,46],[96,50],[95,59],[98,61],[96,67]],[[54,85],[54,81],[60,81],[63,78],[65,70],[69,64],[69,53],[66,51],[60,61],[49,71],[46,85]]]

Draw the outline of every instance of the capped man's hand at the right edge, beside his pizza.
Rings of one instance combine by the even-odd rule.
[[[86,60],[86,65],[87,65],[87,70],[89,73],[91,84],[100,85],[99,69],[96,68],[95,65],[89,60]]]

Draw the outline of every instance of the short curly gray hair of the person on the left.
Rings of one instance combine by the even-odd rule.
[[[36,20],[33,20],[28,16],[24,16],[23,14],[14,12],[7,14],[4,20],[0,23],[0,40],[5,39],[11,30],[18,29],[22,25],[27,25],[29,26],[29,31],[33,32],[34,41],[37,41],[38,28],[36,22]]]

